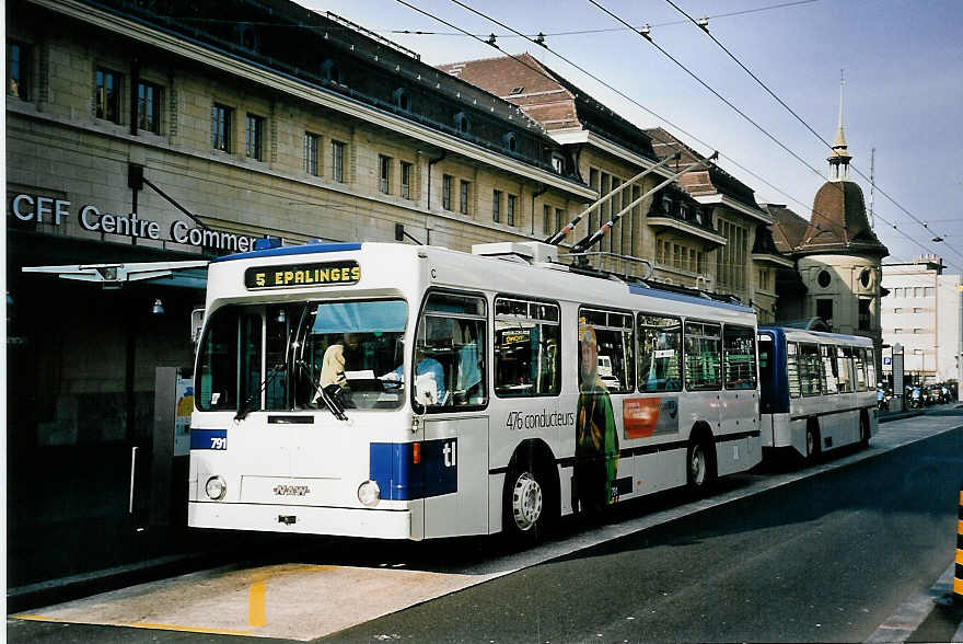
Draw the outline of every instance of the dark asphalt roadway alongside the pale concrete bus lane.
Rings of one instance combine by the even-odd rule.
[[[724,492],[765,476],[723,480],[721,486]],[[963,428],[746,498],[683,513],[668,524],[320,641],[862,642],[908,596],[929,588],[952,561],[961,480]],[[612,520],[622,525],[626,517],[677,503],[677,495],[669,495],[624,504]],[[604,531],[572,525],[562,530],[567,538]],[[291,550],[281,548],[278,561],[372,565],[370,543],[314,540],[287,545]],[[322,551],[305,556],[318,547]],[[429,548],[399,543],[381,554],[383,561],[394,557],[442,572],[506,559],[492,540],[474,539]],[[295,559],[286,559],[289,555]],[[8,620],[7,625],[10,642],[242,641],[221,634],[19,620]]]

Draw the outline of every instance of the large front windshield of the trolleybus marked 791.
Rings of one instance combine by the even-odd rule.
[[[405,400],[404,300],[227,306],[207,324],[197,371],[201,411],[347,410]]]

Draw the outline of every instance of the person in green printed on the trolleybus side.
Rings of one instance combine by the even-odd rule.
[[[596,513],[616,499],[618,433],[608,389],[599,376],[595,330],[579,325],[579,402],[576,407],[576,463],[572,510]]]

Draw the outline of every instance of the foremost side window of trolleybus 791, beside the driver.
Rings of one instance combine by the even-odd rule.
[[[429,294],[415,336],[411,391],[416,405],[438,412],[488,402],[485,315],[483,297]]]

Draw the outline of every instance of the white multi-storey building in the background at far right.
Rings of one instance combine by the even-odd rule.
[[[903,345],[904,381],[960,381],[963,354],[963,280],[944,275],[942,260],[920,255],[914,262],[883,264],[883,342]],[[884,355],[887,355],[884,352]],[[884,360],[883,372],[892,371]]]

